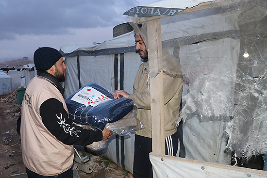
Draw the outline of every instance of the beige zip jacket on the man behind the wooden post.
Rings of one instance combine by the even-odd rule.
[[[137,107],[136,117],[146,127],[145,129],[135,131],[135,134],[151,138],[150,87],[148,69],[148,62],[140,65],[134,81],[134,93],[131,94],[129,98],[133,99]],[[171,77],[166,73],[163,74],[165,137],[172,135],[177,131],[177,127],[173,122],[175,117],[179,114],[183,83],[184,81],[182,75],[180,75],[180,77]]]

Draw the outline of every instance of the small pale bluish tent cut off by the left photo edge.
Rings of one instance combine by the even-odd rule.
[[[0,71],[0,95],[12,93],[12,79],[9,75]]]

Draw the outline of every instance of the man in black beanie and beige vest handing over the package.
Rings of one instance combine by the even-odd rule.
[[[72,178],[73,145],[107,141],[111,131],[86,130],[72,124],[64,100],[67,66],[57,49],[34,52],[37,76],[28,84],[21,107],[22,158],[28,178]]]

